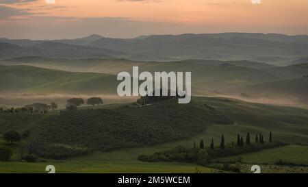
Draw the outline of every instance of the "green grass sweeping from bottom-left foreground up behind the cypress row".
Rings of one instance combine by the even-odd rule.
[[[303,143],[308,145],[307,136],[307,110],[299,108],[281,107],[274,105],[264,105],[256,103],[245,103],[242,101],[226,101],[225,99],[198,97],[194,98],[198,103],[207,103],[216,109],[223,111],[224,114],[232,116],[232,119],[238,125],[210,125],[205,132],[176,142],[164,143],[155,146],[138,147],[132,149],[121,149],[111,152],[95,152],[91,155],[81,156],[63,161],[49,160],[42,163],[21,163],[17,161],[0,162],[0,172],[36,172],[44,173],[44,167],[47,164],[55,164],[57,171],[60,172],[175,172],[190,173],[195,168],[203,172],[214,172],[201,166],[183,163],[144,163],[136,158],[140,154],[152,154],[155,151],[170,149],[177,145],[192,146],[193,140],[205,139],[205,145],[208,146],[209,139],[214,137],[215,144],[218,145],[220,134],[224,133],[225,141],[235,140],[238,132],[242,136],[247,131],[264,132],[265,140],[269,130],[273,131],[274,140],[281,139],[286,142]],[[1,124],[2,125],[2,124]],[[252,133],[253,134],[253,133]],[[297,147],[297,146],[296,146]],[[280,149],[280,148],[279,148]],[[295,150],[295,149],[292,149]],[[267,150],[265,150],[267,151]],[[296,153],[297,154],[297,153]],[[278,157],[278,156],[277,156]],[[281,156],[279,155],[281,158]]]

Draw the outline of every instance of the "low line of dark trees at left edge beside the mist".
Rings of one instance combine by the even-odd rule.
[[[49,110],[57,109],[57,104],[51,102],[46,103],[33,103],[31,105],[25,105],[22,108],[0,108],[0,113],[47,113]]]

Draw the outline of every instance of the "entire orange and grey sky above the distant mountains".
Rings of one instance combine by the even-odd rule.
[[[0,0],[0,38],[308,34],[307,0]]]

